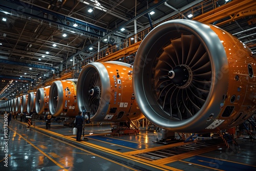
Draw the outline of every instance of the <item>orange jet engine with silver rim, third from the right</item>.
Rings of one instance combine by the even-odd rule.
[[[79,109],[76,104],[76,80],[54,81],[49,90],[49,110],[57,117],[76,116]]]

